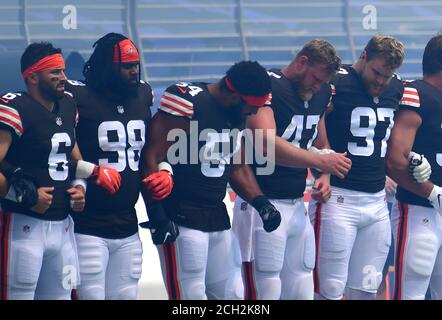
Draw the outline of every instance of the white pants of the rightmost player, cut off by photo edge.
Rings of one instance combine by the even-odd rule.
[[[442,217],[433,208],[396,202],[391,212],[396,243],[394,299],[442,300]]]

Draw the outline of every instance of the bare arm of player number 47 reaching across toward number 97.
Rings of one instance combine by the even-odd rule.
[[[263,130],[263,148],[257,149],[262,154],[267,154],[266,146],[270,139],[275,142],[275,158],[277,164],[286,167],[318,168],[321,171],[334,174],[343,178],[351,168],[351,160],[343,154],[318,155],[301,148],[297,148],[276,136],[275,116],[271,108],[260,108],[255,115],[247,119],[247,127],[253,131]],[[271,142],[271,141],[270,141]],[[259,148],[259,146],[257,146]]]

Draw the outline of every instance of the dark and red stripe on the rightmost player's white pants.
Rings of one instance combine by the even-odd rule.
[[[405,244],[407,242],[407,223],[408,223],[408,203],[398,201],[399,223],[396,236],[396,252],[395,252],[395,276],[393,299],[402,299],[402,276]]]

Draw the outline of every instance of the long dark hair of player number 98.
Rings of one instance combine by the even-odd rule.
[[[127,37],[122,34],[111,32],[94,43],[94,52],[83,68],[83,75],[88,86],[98,92],[103,92],[109,87],[109,83],[116,77],[113,68],[114,48],[125,39]],[[121,51],[119,54],[121,55]],[[121,62],[118,68],[121,67],[120,64]],[[138,74],[139,78],[141,78],[140,75],[141,70]]]

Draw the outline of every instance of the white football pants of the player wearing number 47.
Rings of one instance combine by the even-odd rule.
[[[311,300],[315,238],[304,199],[270,202],[281,224],[269,233],[250,204],[235,200],[232,228],[240,242],[245,299]]]

